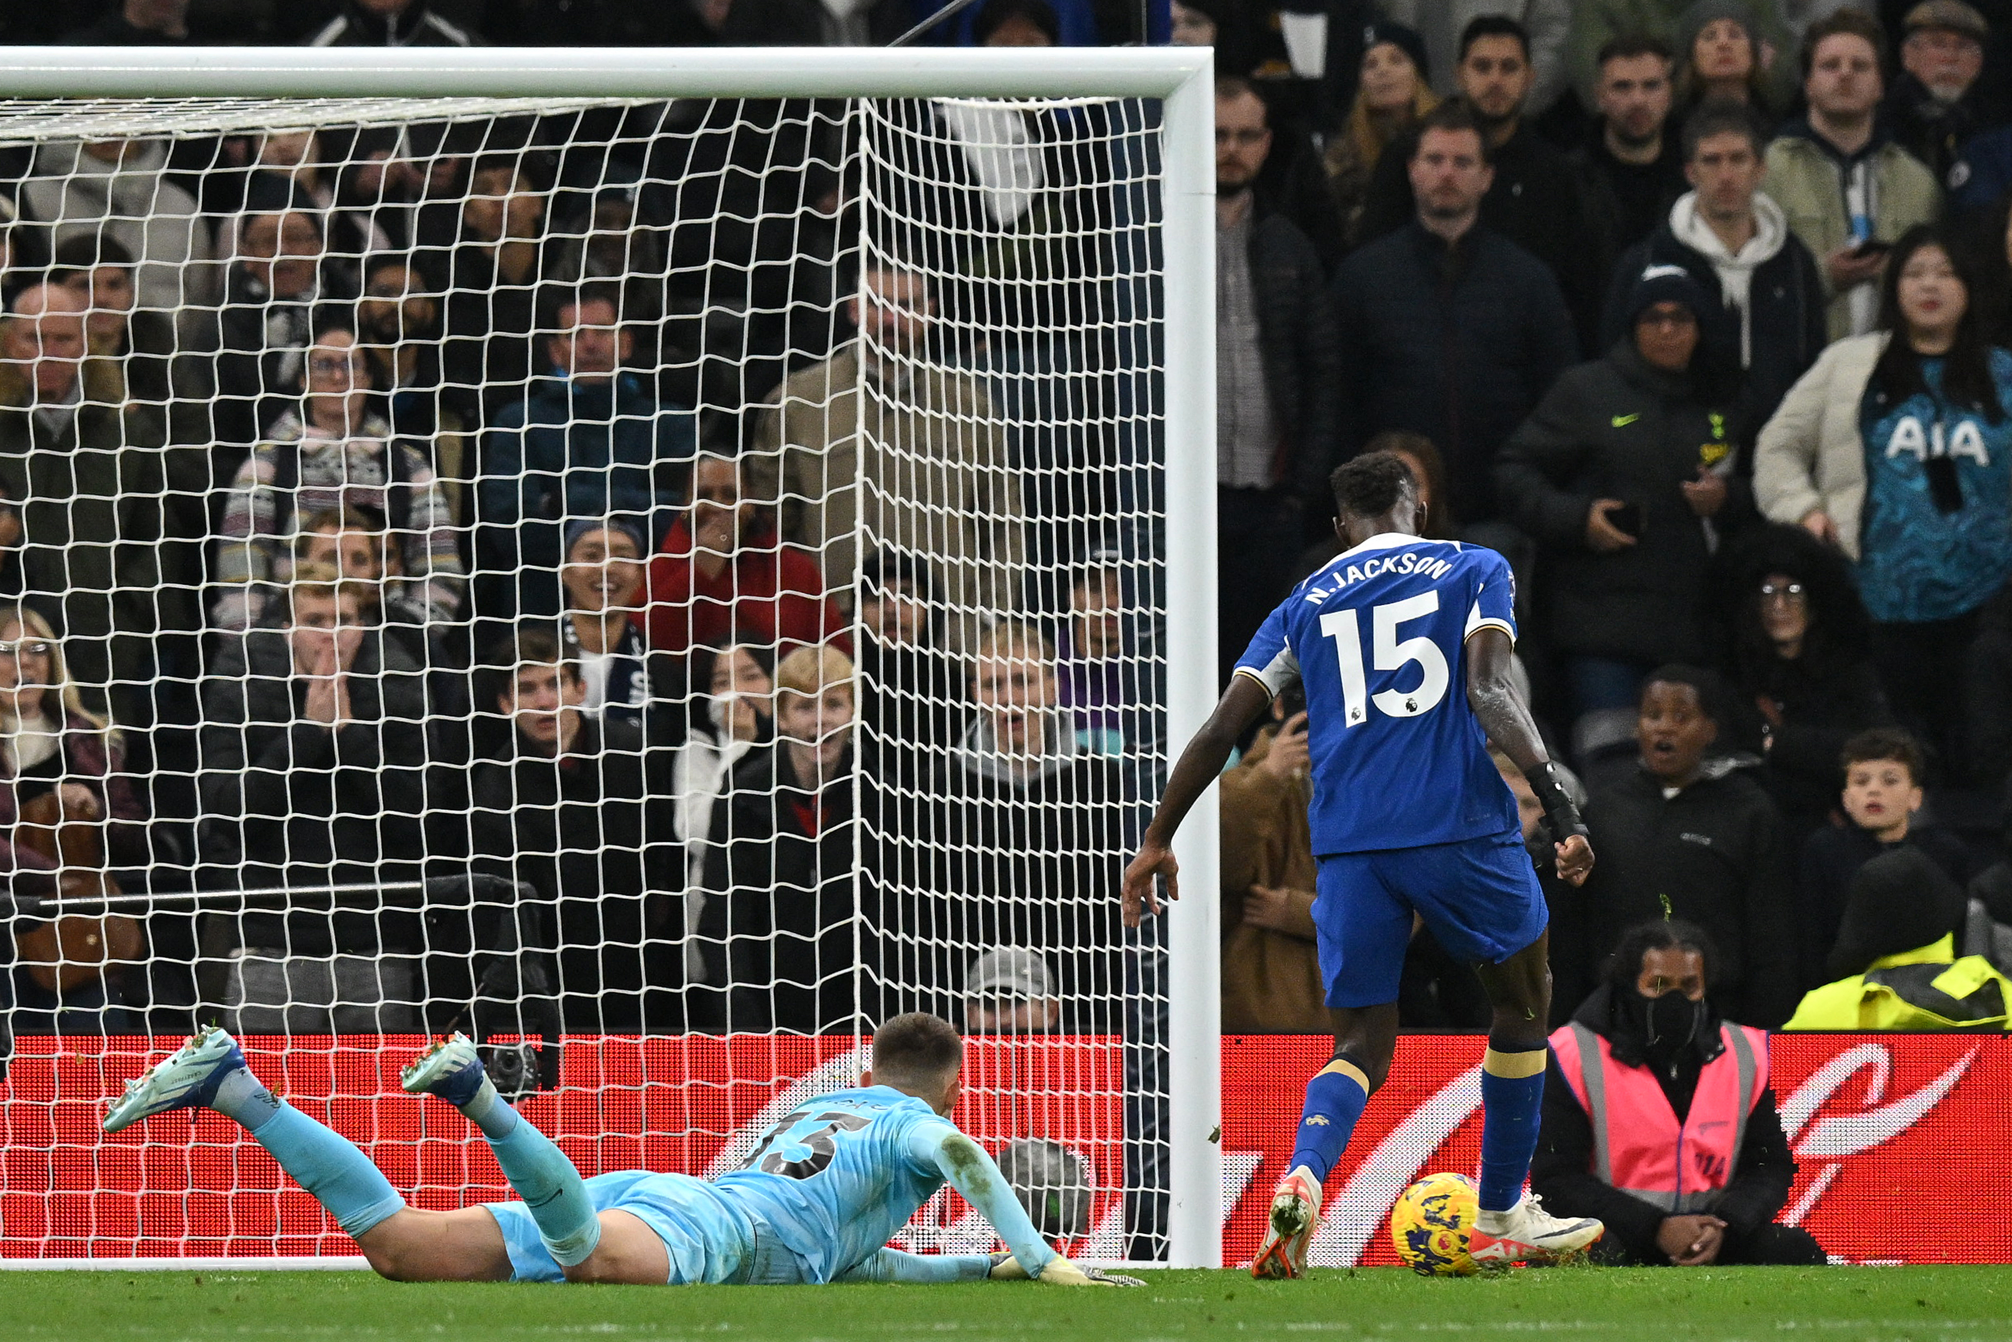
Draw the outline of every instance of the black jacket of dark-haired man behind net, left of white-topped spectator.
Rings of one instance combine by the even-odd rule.
[[[642,726],[600,716],[563,759],[511,742],[469,769],[475,869],[537,891],[567,1030],[682,1024],[684,845],[668,775],[670,752],[646,750]]]

